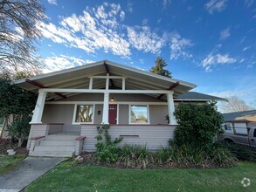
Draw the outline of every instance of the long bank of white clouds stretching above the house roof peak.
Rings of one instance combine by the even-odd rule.
[[[125,12],[121,10],[120,4],[103,3],[95,8],[86,7],[81,15],[59,17],[59,25],[38,22],[37,26],[44,38],[86,53],[104,51],[129,58],[131,47],[159,54],[165,45],[170,45],[171,59],[192,56],[185,51],[192,45],[190,39],[182,38],[177,33],[170,36],[167,32],[159,34],[149,28],[148,19],[143,20],[142,26],[121,24],[124,17]]]

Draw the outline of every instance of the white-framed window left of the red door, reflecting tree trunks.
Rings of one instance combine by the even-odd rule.
[[[93,123],[93,105],[77,105],[74,122]]]

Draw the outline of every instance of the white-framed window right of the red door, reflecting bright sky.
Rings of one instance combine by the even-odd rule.
[[[149,123],[148,106],[130,106],[130,123]]]

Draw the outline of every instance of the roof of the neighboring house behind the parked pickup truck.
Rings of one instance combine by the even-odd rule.
[[[250,110],[245,112],[223,113],[223,117],[225,121],[236,121],[236,120],[256,121],[256,110]]]

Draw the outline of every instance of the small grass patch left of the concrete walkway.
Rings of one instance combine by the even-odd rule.
[[[14,168],[20,161],[24,160],[26,154],[17,154],[14,156],[0,156],[0,175]]]

